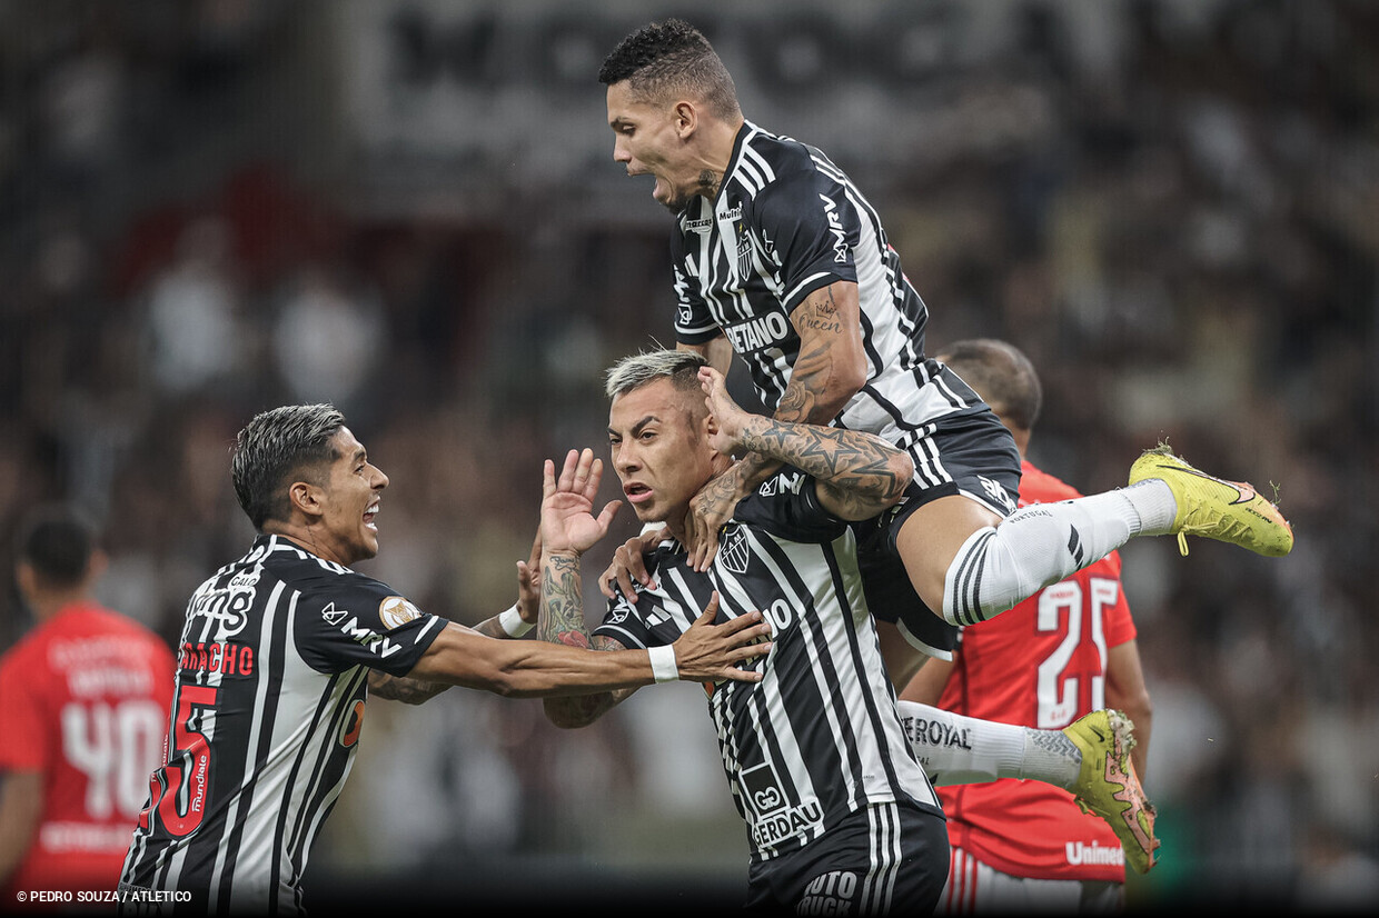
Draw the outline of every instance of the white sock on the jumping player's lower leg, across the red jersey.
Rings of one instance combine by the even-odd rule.
[[[1037,731],[898,702],[910,748],[935,787],[1000,777],[1040,780],[1069,790],[1083,754],[1063,731]]]

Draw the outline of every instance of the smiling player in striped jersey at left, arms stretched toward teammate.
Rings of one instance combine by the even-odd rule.
[[[258,536],[188,602],[165,759],[120,882],[130,912],[302,911],[308,856],[349,776],[370,693],[419,703],[451,685],[521,697],[655,680],[645,651],[495,640],[530,627],[535,595],[470,629],[353,571],[378,553],[389,481],[331,405],[255,416],[232,471]],[[749,646],[765,623],[712,616],[663,652],[677,675],[758,680],[736,664],[769,648]]]

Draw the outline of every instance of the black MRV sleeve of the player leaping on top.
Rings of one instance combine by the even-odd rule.
[[[843,185],[823,172],[778,178],[753,198],[752,221],[781,266],[786,313],[821,287],[856,283],[852,252],[860,240],[860,216]]]

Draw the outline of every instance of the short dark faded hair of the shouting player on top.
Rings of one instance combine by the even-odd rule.
[[[612,85],[623,80],[634,98],[687,92],[721,119],[742,114],[728,68],[703,33],[684,19],[652,22],[619,41],[598,69],[598,81]]]

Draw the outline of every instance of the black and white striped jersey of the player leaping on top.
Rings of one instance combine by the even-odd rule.
[[[980,404],[925,358],[924,300],[873,207],[812,146],[745,123],[717,198],[692,198],[670,249],[677,339],[702,345],[727,335],[771,411],[800,350],[790,313],[838,280],[858,285],[867,357],[866,385],[838,426],[909,449],[935,418]]]

